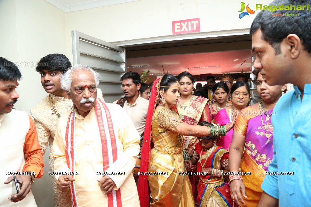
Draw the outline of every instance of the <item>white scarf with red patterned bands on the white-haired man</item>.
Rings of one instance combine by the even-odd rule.
[[[117,143],[116,137],[114,135],[113,123],[111,120],[110,112],[108,107],[97,97],[95,101],[95,112],[97,116],[98,128],[100,131],[100,139],[102,145],[102,153],[103,153],[103,169],[104,172],[109,168],[111,164],[113,164],[117,158]],[[71,172],[75,172],[75,151],[74,151],[74,142],[75,142],[75,107],[72,107],[72,112],[69,115],[66,127],[66,160],[67,166],[71,170]],[[105,122],[103,121],[103,117],[106,118]],[[105,124],[107,124],[105,126]],[[109,129],[109,134],[105,133],[104,128]],[[72,175],[75,178],[75,175]],[[77,195],[75,189],[75,181],[72,182],[72,185],[69,188],[71,193],[71,201],[74,207],[78,207]],[[121,188],[117,191],[112,190],[107,194],[108,198],[108,206],[111,207],[122,207],[121,202]]]

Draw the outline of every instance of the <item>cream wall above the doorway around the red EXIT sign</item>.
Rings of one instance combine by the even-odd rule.
[[[141,0],[66,13],[66,33],[72,30],[106,42],[172,35],[172,21],[200,18],[201,33],[248,31],[258,14],[239,19],[241,1]],[[272,0],[261,0],[268,4]],[[249,7],[255,9],[255,3]],[[216,32],[215,32],[216,31]],[[220,33],[220,32],[219,32]],[[67,38],[67,52],[72,48]]]

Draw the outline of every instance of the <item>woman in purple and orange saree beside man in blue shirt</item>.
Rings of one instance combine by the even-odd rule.
[[[257,206],[261,194],[261,183],[273,157],[273,107],[286,89],[285,85],[269,86],[258,72],[257,91],[262,101],[241,111],[234,125],[229,150],[230,172],[251,172],[234,178],[230,177],[231,196],[238,205]],[[242,160],[241,160],[242,158]],[[244,188],[245,187],[245,192]],[[243,190],[242,190],[243,189]],[[243,195],[242,200],[238,196]]]

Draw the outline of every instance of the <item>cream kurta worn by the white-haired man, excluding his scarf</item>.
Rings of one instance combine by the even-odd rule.
[[[109,108],[114,133],[116,135],[118,159],[106,172],[124,172],[125,175],[109,175],[115,182],[117,190],[121,187],[123,206],[139,206],[137,187],[132,175],[136,157],[139,152],[139,134],[137,133],[130,117],[116,104],[106,103]],[[59,122],[53,143],[54,172],[68,172],[65,155],[65,132],[69,112],[64,114]],[[105,113],[103,113],[104,115]],[[103,116],[103,120],[106,117]],[[106,134],[108,130],[105,130]],[[75,187],[78,205],[81,206],[108,206],[107,195],[100,190],[100,179],[103,172],[102,147],[98,129],[95,108],[85,118],[75,113]],[[60,175],[56,175],[58,178]]]

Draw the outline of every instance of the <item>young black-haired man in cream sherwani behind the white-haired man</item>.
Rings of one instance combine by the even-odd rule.
[[[72,110],[72,101],[68,99],[65,90],[61,88],[60,78],[71,67],[69,59],[63,54],[49,54],[41,58],[36,71],[41,76],[41,84],[49,93],[34,108],[30,110],[38,131],[40,146],[43,154],[50,146],[49,164],[51,172],[54,171],[53,140],[58,119],[67,111]],[[102,97],[100,89],[98,94]],[[71,207],[69,192],[61,193],[57,190],[55,176],[52,175],[55,207]]]

